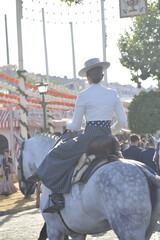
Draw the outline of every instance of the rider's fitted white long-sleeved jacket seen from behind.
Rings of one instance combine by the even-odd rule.
[[[81,128],[83,117],[86,121],[112,121],[114,115],[116,122],[111,126],[113,135],[119,132],[127,121],[122,102],[116,90],[106,88],[101,83],[91,84],[78,94],[73,119],[67,121],[66,127],[77,131]]]

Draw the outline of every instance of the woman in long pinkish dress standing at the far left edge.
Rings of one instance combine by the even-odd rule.
[[[5,149],[4,158],[1,163],[2,183],[0,185],[0,194],[8,196],[17,192],[13,184],[12,173],[14,173],[13,160],[9,156],[9,149]]]

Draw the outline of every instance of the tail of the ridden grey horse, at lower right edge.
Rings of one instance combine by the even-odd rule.
[[[141,169],[143,170],[148,181],[152,204],[150,224],[146,231],[146,240],[149,240],[153,231],[155,230],[157,221],[160,219],[160,177],[148,171],[146,168]]]

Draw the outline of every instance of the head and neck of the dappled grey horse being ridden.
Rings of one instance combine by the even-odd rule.
[[[26,195],[34,193],[35,184],[31,182],[32,176],[36,173],[38,166],[45,158],[48,151],[55,142],[55,138],[47,135],[35,135],[32,138],[23,140],[15,135],[21,146],[18,158],[18,178],[21,192]]]

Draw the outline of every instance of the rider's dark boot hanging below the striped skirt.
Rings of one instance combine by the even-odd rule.
[[[65,199],[61,193],[52,193],[49,195],[49,202],[44,208],[44,213],[54,213],[65,207]]]

